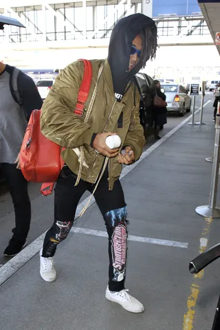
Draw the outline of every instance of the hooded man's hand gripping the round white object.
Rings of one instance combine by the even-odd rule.
[[[119,148],[110,149],[105,143],[105,139],[109,135],[116,135],[116,133],[98,133],[95,137],[93,147],[99,153],[107,157],[115,157],[118,155]]]

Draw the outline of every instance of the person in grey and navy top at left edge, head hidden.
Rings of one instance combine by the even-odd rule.
[[[14,256],[22,250],[30,228],[28,182],[19,169],[19,151],[32,110],[41,109],[43,103],[32,78],[21,71],[17,88],[13,89],[15,71],[14,67],[0,62],[0,173],[8,181],[15,213],[15,228],[5,256]]]

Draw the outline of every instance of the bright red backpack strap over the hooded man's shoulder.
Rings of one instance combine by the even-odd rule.
[[[80,115],[82,117],[83,115],[83,109],[85,107],[85,102],[87,100],[87,97],[89,95],[89,89],[91,85],[91,76],[92,76],[92,67],[91,62],[88,60],[83,60],[83,58],[80,58],[78,61],[83,61],[84,63],[84,74],[83,74],[83,80],[80,85],[80,89],[78,91],[78,98],[76,103],[76,109],[74,113],[76,115]]]

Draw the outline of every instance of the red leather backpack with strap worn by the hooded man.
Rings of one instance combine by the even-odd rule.
[[[92,67],[90,61],[80,61],[83,61],[85,69],[74,113],[82,116],[91,85]],[[41,192],[43,195],[50,195],[64,161],[61,157],[61,146],[41,133],[40,116],[41,110],[32,111],[21,145],[20,166],[27,181],[47,182],[42,185]]]

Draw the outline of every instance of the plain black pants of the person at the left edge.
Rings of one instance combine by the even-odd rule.
[[[15,228],[12,229],[13,238],[25,241],[30,229],[31,206],[28,196],[28,182],[16,166],[17,164],[0,163],[0,171],[8,181],[14,204]]]

